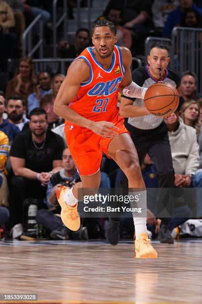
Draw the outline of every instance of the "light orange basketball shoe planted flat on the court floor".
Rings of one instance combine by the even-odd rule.
[[[135,258],[138,259],[156,259],[157,252],[151,245],[151,240],[146,232],[139,234],[135,240]]]

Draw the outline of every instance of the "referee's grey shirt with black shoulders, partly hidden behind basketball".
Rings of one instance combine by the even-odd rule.
[[[138,85],[143,87],[149,87],[155,82],[158,82],[151,74],[148,69],[148,66],[138,68],[133,71],[132,73],[132,79],[134,82],[136,82]],[[180,85],[180,74],[177,71],[174,71],[173,69],[166,69],[165,76],[160,79],[164,82],[169,82],[174,87],[178,87]],[[133,105],[139,106],[139,107],[145,107],[144,99],[140,98],[130,98],[123,96],[124,98],[128,98],[130,100],[133,100]],[[128,118],[128,124],[132,125],[133,127],[136,127],[141,130],[150,130],[157,128],[163,121],[163,118],[157,117],[154,115],[144,115],[139,117],[130,117]]]

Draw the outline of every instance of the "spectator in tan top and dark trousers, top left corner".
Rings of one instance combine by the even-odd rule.
[[[17,36],[11,32],[15,19],[11,7],[0,0],[0,65],[5,69],[6,60],[15,54]]]

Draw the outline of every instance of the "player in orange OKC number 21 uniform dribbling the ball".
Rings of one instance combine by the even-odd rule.
[[[70,65],[54,103],[55,113],[66,121],[67,145],[82,180],[70,190],[62,186],[57,192],[61,219],[71,230],[80,227],[78,187],[99,188],[102,152],[126,174],[134,204],[135,189],[142,190],[138,191],[139,203],[146,210],[147,194],[137,152],[119,116],[117,96],[119,89],[123,93],[130,91],[131,97],[144,98],[147,89],[132,82],[131,52],[115,46],[117,35],[112,22],[97,21],[92,40],[94,47],[85,49]],[[135,257],[156,258],[146,232],[146,216],[137,218],[134,213],[133,217],[137,234]]]

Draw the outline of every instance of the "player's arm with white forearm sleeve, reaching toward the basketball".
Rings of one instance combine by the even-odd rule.
[[[125,47],[121,47],[120,49],[125,73],[119,85],[119,91],[127,97],[144,98],[147,88],[139,86],[137,83],[132,81],[130,70],[132,64],[131,51]]]

